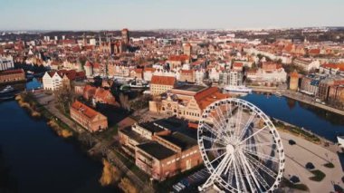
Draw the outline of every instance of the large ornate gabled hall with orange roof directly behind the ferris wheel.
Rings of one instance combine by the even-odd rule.
[[[198,121],[209,104],[228,97],[229,95],[221,93],[217,87],[182,85],[172,89],[161,101],[149,101],[149,111]]]

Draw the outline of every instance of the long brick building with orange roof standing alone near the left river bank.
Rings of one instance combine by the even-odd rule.
[[[108,118],[80,101],[74,101],[70,108],[71,118],[82,127],[95,132],[108,129]]]

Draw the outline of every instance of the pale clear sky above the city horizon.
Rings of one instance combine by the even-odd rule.
[[[344,26],[344,0],[0,0],[0,30]]]

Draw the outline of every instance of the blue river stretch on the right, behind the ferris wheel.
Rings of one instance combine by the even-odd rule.
[[[336,136],[344,134],[344,116],[339,114],[275,95],[253,92],[242,99],[252,102],[273,118],[311,130],[328,140],[337,142]]]

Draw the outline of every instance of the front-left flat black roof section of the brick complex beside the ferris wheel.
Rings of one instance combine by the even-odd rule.
[[[152,141],[137,146],[140,150],[144,150],[150,156],[156,159],[167,159],[168,157],[176,154],[175,151],[167,149],[165,146],[160,145],[158,142]]]

